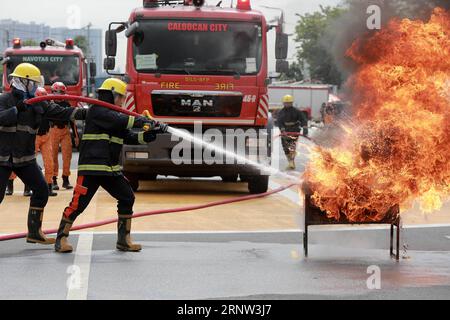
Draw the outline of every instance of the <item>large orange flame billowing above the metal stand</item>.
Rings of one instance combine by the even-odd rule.
[[[342,145],[313,153],[313,201],[353,222],[415,199],[439,209],[450,194],[450,12],[393,20],[347,54],[359,66],[348,83],[356,113]]]

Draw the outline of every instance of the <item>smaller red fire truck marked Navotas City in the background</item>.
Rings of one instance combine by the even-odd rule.
[[[67,86],[70,95],[86,96],[88,94],[88,64],[83,51],[75,46],[72,39],[61,43],[47,39],[40,46],[24,47],[21,39],[14,39],[13,46],[6,49],[0,58],[3,68],[3,90],[9,91],[8,76],[20,63],[31,63],[38,67],[44,76],[45,86],[58,81]],[[89,65],[91,78],[96,75],[96,65]]]

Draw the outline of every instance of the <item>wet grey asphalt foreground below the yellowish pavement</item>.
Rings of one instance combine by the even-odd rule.
[[[115,251],[113,234],[73,236],[68,255],[12,241],[0,243],[0,299],[449,299],[448,235],[405,230],[400,262],[387,230],[313,232],[308,259],[297,232],[137,234],[136,254]]]

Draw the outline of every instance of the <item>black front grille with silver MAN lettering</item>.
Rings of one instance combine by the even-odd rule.
[[[238,118],[243,96],[238,92],[153,91],[153,112],[157,117]]]

